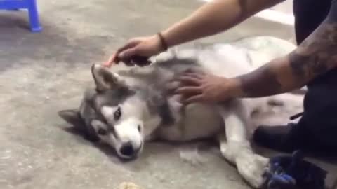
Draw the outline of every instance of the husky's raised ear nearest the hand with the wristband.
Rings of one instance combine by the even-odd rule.
[[[93,64],[91,66],[93,80],[95,80],[96,90],[102,92],[116,87],[125,87],[124,81],[117,73],[112,73],[105,66]]]

